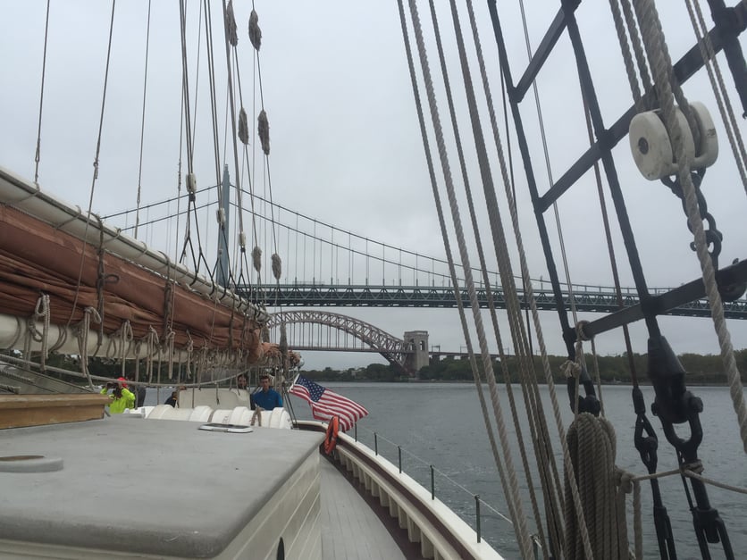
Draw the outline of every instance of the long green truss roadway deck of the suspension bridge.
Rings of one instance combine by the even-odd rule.
[[[267,302],[279,307],[456,307],[457,298],[453,288],[448,286],[374,286],[374,285],[327,285],[319,283],[294,283],[254,288],[238,286],[243,297],[251,301]],[[620,310],[617,294],[613,288],[596,286],[574,286],[573,297],[579,311],[592,313],[615,313]],[[477,298],[481,307],[488,306],[485,288],[477,288]],[[534,288],[534,298],[541,310],[557,309],[555,295],[550,287]],[[670,290],[651,290],[651,296],[667,294]],[[493,301],[499,308],[505,308],[506,299],[501,288],[493,289]],[[519,289],[522,295],[522,290]],[[461,297],[469,301],[466,288],[462,288]],[[638,295],[632,288],[623,288],[623,306],[634,307],[640,304]],[[563,293],[563,303],[570,308],[570,296]],[[734,302],[724,304],[726,318],[747,319],[747,298],[741,297]],[[689,317],[709,317],[708,300],[701,298],[689,303],[680,304],[668,309],[668,315]]]

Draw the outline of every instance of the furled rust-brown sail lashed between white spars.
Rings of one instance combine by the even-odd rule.
[[[160,347],[172,361],[206,350],[237,365],[262,356],[256,305],[2,169],[0,196],[0,347],[84,344],[110,357]]]

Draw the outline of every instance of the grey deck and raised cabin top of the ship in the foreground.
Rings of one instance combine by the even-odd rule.
[[[245,533],[276,538],[270,505],[291,525],[294,515],[309,515],[304,524],[318,524],[324,559],[406,557],[365,499],[320,460],[322,434],[197,427],[124,414],[4,430],[0,455],[44,458],[29,461],[28,472],[23,461],[3,462],[20,472],[0,468],[0,556],[21,550],[54,550],[54,556],[64,548],[93,555],[86,557],[104,550],[212,557],[245,547],[246,553],[239,544],[248,542]],[[308,502],[310,513],[275,506],[287,493],[291,506]]]

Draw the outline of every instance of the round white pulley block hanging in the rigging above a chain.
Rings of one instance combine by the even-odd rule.
[[[701,131],[701,142],[697,149],[690,126],[679,107],[676,110],[677,121],[683,133],[685,155],[692,162],[691,169],[703,169],[713,165],[718,157],[716,127],[704,104],[693,102],[690,107]],[[628,138],[633,159],[643,177],[659,180],[677,174],[674,148],[659,110],[635,115],[630,121]]]

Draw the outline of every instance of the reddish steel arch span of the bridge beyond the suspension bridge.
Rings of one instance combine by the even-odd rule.
[[[267,326],[270,329],[280,328],[281,324],[285,325],[322,325],[331,329],[340,330],[370,348],[371,352],[378,352],[386,360],[399,368],[401,372],[412,374],[412,369],[407,359],[413,355],[415,348],[411,343],[403,339],[390,335],[390,333],[374,327],[374,325],[342,315],[340,313],[329,313],[326,311],[281,311],[272,313]],[[290,338],[289,338],[290,339]],[[289,340],[290,344],[290,340]],[[319,350],[318,346],[292,345],[294,350]],[[365,351],[362,348],[349,347],[329,347],[323,349],[348,350],[348,351]]]

